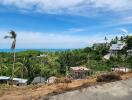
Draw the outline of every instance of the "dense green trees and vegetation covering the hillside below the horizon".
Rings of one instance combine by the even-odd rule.
[[[117,57],[109,60],[103,56],[109,52],[110,45],[118,40],[126,42],[127,46]],[[32,80],[36,76],[63,76],[72,66],[82,66],[93,71],[110,71],[113,67],[132,68],[132,57],[127,56],[127,49],[132,47],[132,36],[116,37],[109,45],[86,47],[84,49],[67,50],[62,52],[23,51],[16,52],[14,77]],[[39,57],[41,54],[45,56]],[[0,75],[11,76],[13,53],[0,53]]]

